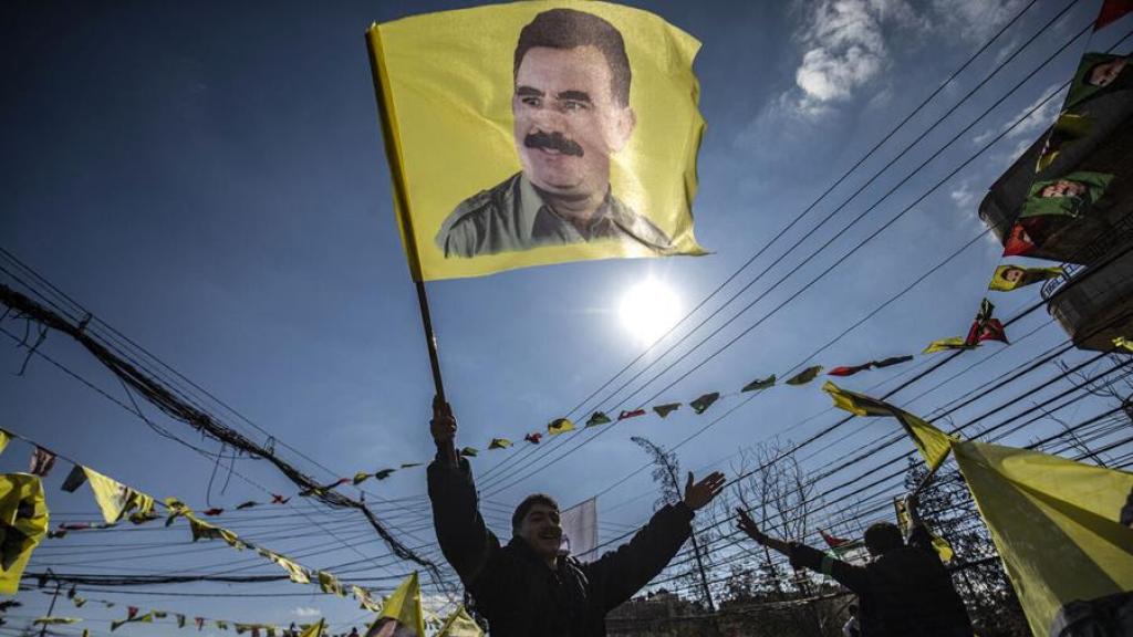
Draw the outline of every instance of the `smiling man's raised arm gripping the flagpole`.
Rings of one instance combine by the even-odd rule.
[[[436,459],[428,466],[433,526],[444,558],[471,587],[500,550],[500,541],[480,517],[471,467],[455,452],[457,419],[448,404],[433,401],[429,428],[437,448]]]

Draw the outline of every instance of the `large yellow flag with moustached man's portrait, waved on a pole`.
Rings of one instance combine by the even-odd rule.
[[[606,2],[516,2],[367,32],[416,280],[705,254],[700,43]]]

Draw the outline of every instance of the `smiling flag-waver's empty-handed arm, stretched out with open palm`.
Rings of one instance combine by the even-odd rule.
[[[692,515],[724,487],[724,475],[714,473],[698,483],[689,474],[684,499],[664,507],[628,543],[583,564],[595,594],[612,610],[657,577],[692,533]]]

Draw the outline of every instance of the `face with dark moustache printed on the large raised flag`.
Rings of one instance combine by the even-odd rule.
[[[591,45],[529,49],[516,71],[516,148],[535,186],[565,198],[603,196],[610,155],[633,131],[633,111],[613,95],[612,73]]]

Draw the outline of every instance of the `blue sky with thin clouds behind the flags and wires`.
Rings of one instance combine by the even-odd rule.
[[[461,443],[484,448],[496,435],[518,440],[523,432],[564,415],[642,350],[640,340],[619,320],[617,307],[627,290],[654,278],[673,288],[684,309],[690,309],[1024,2],[641,5],[704,42],[696,70],[708,131],[700,154],[695,213],[697,237],[714,254],[569,264],[431,284],[446,389],[460,421]],[[1077,5],[1036,37],[1034,33],[1064,7],[1039,0],[786,239],[811,229],[819,215],[853,193],[998,60],[1033,40],[1029,48],[722,317],[731,316],[772,281],[793,271],[780,288],[634,400],[653,396],[759,320],[1067,79],[1084,50],[1084,39],[1036,74],[861,223],[841,230],[1089,23],[1098,2]],[[330,481],[356,470],[426,460],[432,453],[427,419],[433,391],[414,288],[391,210],[363,32],[374,20],[458,6],[465,5],[7,7],[7,19],[0,23],[8,85],[0,101],[6,122],[0,137],[0,171],[6,185],[0,245],[278,441],[330,467],[330,472],[323,470],[289,449],[281,451],[317,478]],[[1124,24],[1116,27],[1127,28]],[[1091,48],[1105,48],[1115,40],[1109,33],[1096,39]],[[1059,101],[1040,109],[835,272],[655,402],[687,401],[715,390],[734,392],[757,376],[783,374],[957,249],[982,229],[976,209],[983,192],[1053,120]],[[835,233],[840,236],[830,248],[803,263]],[[767,267],[787,245],[773,246],[725,294]],[[981,239],[811,364],[832,367],[913,354],[932,339],[962,334],[985,296],[998,255],[995,244]],[[998,295],[994,300],[998,314],[1011,317],[1037,298],[1037,288],[1030,288]],[[718,303],[714,300],[710,307]],[[3,326],[22,334],[19,323],[8,321]],[[905,405],[927,413],[1065,338],[1041,312],[1020,321],[1011,332],[1023,334],[1036,329],[1033,337],[987,365]],[[698,332],[688,342],[700,338]],[[966,356],[988,356],[1000,347],[993,343]],[[50,336],[42,351],[125,400],[113,376],[66,337]],[[681,351],[683,348],[678,354]],[[5,406],[0,426],[5,428],[148,493],[177,495],[199,509],[207,508],[206,503],[231,508],[244,500],[266,499],[255,485],[266,491],[293,491],[265,462],[249,459],[236,461],[247,482],[229,478],[221,468],[210,490],[214,466],[207,459],[154,434],[137,417],[43,359],[33,358],[26,374],[15,376],[25,354],[15,347],[0,348],[0,377],[5,379],[0,383],[0,404]],[[1068,359],[1084,356],[1071,355]],[[671,357],[662,359],[656,368],[668,360]],[[945,372],[961,370],[962,363]],[[908,375],[909,367],[871,372],[844,385],[863,390],[897,374]],[[646,373],[642,380],[651,375]],[[930,384],[926,381],[913,390]],[[835,422],[840,416],[825,413],[828,398],[818,385],[778,388],[750,401],[681,447],[682,465],[698,468],[713,464],[727,469],[725,459],[742,445],[775,435],[800,440]],[[913,390],[894,400],[902,402],[902,398],[918,393]],[[699,417],[682,410],[665,421],[648,417],[622,423],[563,461],[493,493],[491,521],[504,532],[508,512],[528,492],[546,491],[571,504],[613,485],[598,501],[603,536],[639,525],[653,506],[653,498],[640,495],[649,493],[651,485],[647,473],[619,482],[646,460],[630,436],[646,435],[671,445],[696,431],[704,418],[718,416],[738,402],[730,398]],[[1072,410],[1081,409],[1082,417],[1097,411],[1084,405]],[[611,400],[603,408],[637,406]],[[586,409],[595,407],[591,401]],[[188,427],[145,408],[155,422],[215,450],[215,443],[201,441]],[[799,424],[816,414],[819,416]],[[225,416],[250,428],[231,414]],[[579,419],[585,419],[585,414]],[[853,435],[809,457],[804,466],[820,469],[889,432],[889,425],[852,423]],[[1037,425],[1010,440],[1025,442],[1049,431],[1048,426]],[[264,439],[261,433],[253,435]],[[578,434],[561,443],[562,448],[589,435]],[[24,470],[26,455],[26,445],[14,443],[0,457],[0,466]],[[508,452],[483,453],[474,461],[475,470],[483,473],[505,457]],[[58,491],[67,470],[67,466],[57,468],[48,479],[53,523],[92,519],[95,509],[85,489],[74,495]],[[352,489],[347,491],[357,494]],[[409,544],[432,541],[421,469],[369,483],[367,492],[367,501]],[[358,516],[327,512],[313,503],[281,511],[286,512],[282,518],[265,518],[275,510],[256,509],[222,517],[220,524],[253,540],[261,534],[263,544],[281,552],[325,549],[300,560],[310,567],[365,555],[372,561],[353,571],[353,577],[392,577],[409,570],[408,564],[387,557]],[[347,540],[352,547],[320,533],[309,517],[339,525],[333,527],[335,534],[352,538]],[[829,521],[840,528],[837,519]],[[852,533],[857,524],[842,528]],[[303,536],[275,540],[289,532]],[[246,560],[253,567],[247,572],[278,572],[270,563],[236,555],[223,545],[190,545],[184,527],[76,534],[46,542],[29,570],[203,572]],[[130,547],[136,542],[155,546],[134,553]],[[90,551],[110,552],[84,557],[85,545]],[[435,547],[425,551],[440,559]],[[88,563],[91,560],[97,561]],[[343,575],[343,579],[350,580],[351,575]],[[291,584],[184,585],[152,591],[297,596],[182,597],[82,589],[80,594],[122,605],[240,621],[287,625],[325,613],[341,629],[365,618],[351,602],[307,595],[314,588]],[[25,593],[20,598],[26,603],[19,611],[23,615],[45,609],[46,597],[39,593]],[[123,614],[120,606],[110,611],[63,608],[66,614],[90,618],[88,627],[95,632],[108,629],[99,621]],[[172,634],[176,627],[155,626],[154,630]]]

